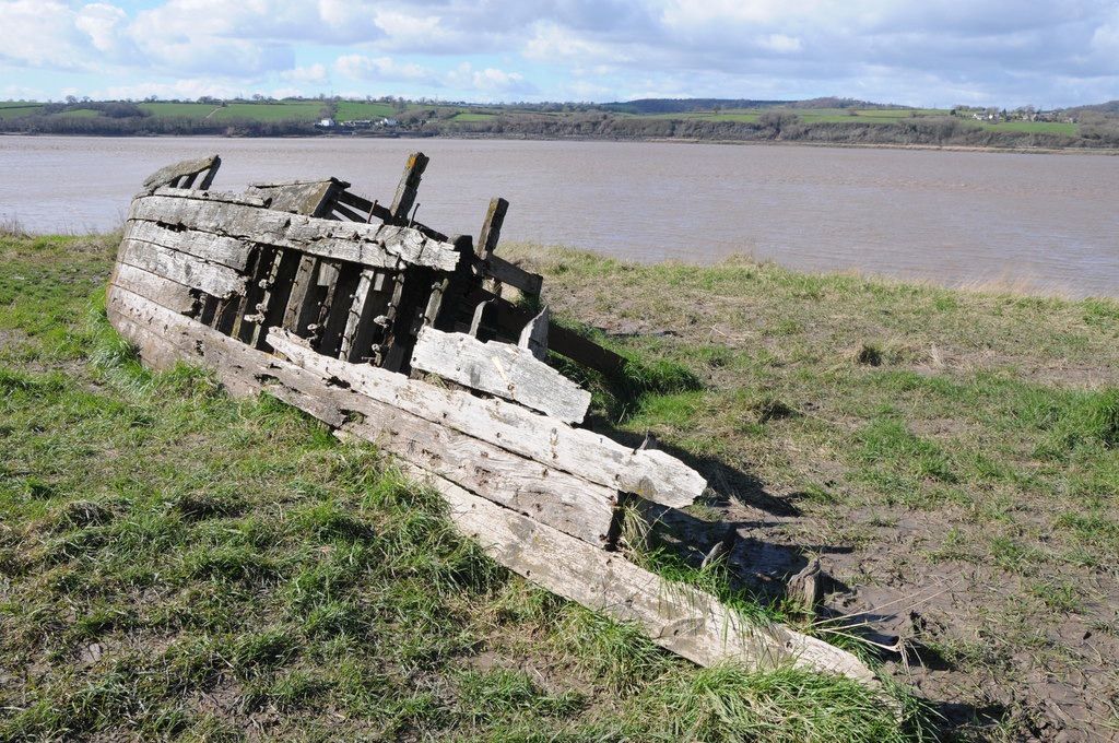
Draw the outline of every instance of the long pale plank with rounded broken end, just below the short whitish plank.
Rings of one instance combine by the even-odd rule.
[[[474,397],[366,364],[327,358],[281,329],[270,329],[267,342],[293,364],[322,377],[336,377],[374,399],[608,488],[680,508],[707,486],[698,472],[670,454],[634,451],[515,403]]]

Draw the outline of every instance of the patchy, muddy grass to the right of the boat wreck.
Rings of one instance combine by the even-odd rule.
[[[626,414],[609,391],[593,405],[706,467],[722,496],[711,517],[756,524],[774,502],[797,514],[752,532],[768,543],[758,564],[778,544],[827,551],[846,585],[928,617],[923,640],[984,632],[1013,659],[999,678],[1019,698],[1037,665],[1098,662],[1082,638],[1112,621],[1103,596],[1119,590],[1119,302],[504,250],[544,275],[560,316],[621,326],[626,337],[595,332],[690,375]],[[953,698],[988,704],[990,668],[951,681]],[[1119,722],[1106,705],[1090,720]]]

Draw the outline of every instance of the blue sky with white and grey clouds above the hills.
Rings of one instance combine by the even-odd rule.
[[[0,0],[0,100],[1119,98],[1119,0]]]

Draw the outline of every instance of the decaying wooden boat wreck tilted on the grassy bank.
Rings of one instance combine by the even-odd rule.
[[[876,685],[850,653],[751,624],[614,549],[620,498],[679,508],[706,482],[666,452],[580,426],[591,395],[547,352],[606,374],[623,360],[527,309],[540,276],[495,254],[504,199],[474,244],[415,222],[421,153],[389,206],[337,179],[216,192],[219,163],[163,168],[132,201],[107,312],[147,364],[205,365],[232,394],[266,392],[376,443],[499,563],[697,664],[792,664]]]

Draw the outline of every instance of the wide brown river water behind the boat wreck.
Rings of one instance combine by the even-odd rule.
[[[336,176],[383,203],[408,151],[417,219],[639,261],[733,254],[808,271],[1119,297],[1119,158],[661,142],[0,137],[0,220],[111,229],[145,176],[217,152],[215,182]]]

